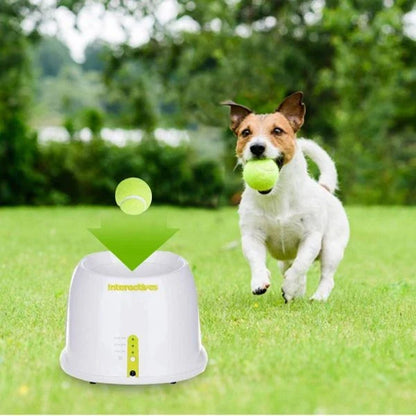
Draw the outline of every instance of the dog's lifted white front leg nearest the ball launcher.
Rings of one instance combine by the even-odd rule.
[[[242,235],[243,253],[250,264],[251,291],[254,295],[262,295],[270,286],[270,272],[266,267],[265,238],[257,233]]]

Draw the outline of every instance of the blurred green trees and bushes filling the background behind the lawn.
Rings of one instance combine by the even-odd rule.
[[[96,42],[77,64],[57,39],[32,46],[36,26],[27,33],[20,25],[36,16],[30,2],[2,2],[1,203],[104,203],[127,171],[152,172],[150,181],[168,183],[156,198],[161,202],[230,201],[242,184],[233,172],[227,110],[218,103],[230,98],[270,112],[295,90],[304,91],[307,106],[301,134],[335,158],[346,202],[416,202],[416,42],[403,19],[413,2],[179,0],[178,16],[165,24],[157,13],[161,0],[102,3],[153,19],[149,41],[138,47]],[[84,5],[57,4],[75,14]],[[178,29],[185,20],[192,30]],[[37,145],[29,126],[46,113],[73,139],[88,126],[95,142]],[[107,146],[100,143],[103,125],[140,128],[148,141],[134,149]],[[192,139],[201,125],[221,128],[226,151],[198,168],[188,166],[191,148],[149,144],[157,127],[190,129]],[[165,161],[152,146],[167,154]],[[197,178],[213,181],[213,193],[202,188],[209,203],[198,194]]]

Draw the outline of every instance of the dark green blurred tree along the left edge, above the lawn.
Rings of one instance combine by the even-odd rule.
[[[28,203],[40,177],[34,171],[36,136],[27,126],[31,98],[28,43],[21,22],[30,1],[0,3],[0,203]]]

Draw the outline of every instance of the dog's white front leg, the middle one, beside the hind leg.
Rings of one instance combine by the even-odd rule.
[[[318,256],[322,245],[322,234],[313,232],[299,244],[292,266],[285,272],[282,295],[286,302],[305,295],[306,273]]]

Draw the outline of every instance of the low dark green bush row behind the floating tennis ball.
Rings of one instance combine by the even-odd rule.
[[[44,178],[38,204],[114,204],[118,182],[130,176],[149,184],[155,203],[216,207],[224,188],[216,161],[195,161],[189,146],[154,139],[124,147],[99,139],[49,143],[37,168]]]

